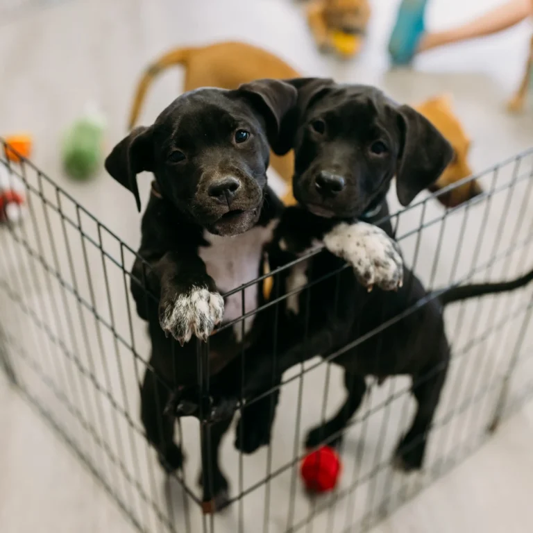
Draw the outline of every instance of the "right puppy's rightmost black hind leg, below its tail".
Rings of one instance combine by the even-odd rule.
[[[413,376],[412,393],[418,406],[411,428],[396,448],[394,466],[400,470],[409,472],[422,468],[433,417],[446,381],[449,358],[447,354],[437,364]]]

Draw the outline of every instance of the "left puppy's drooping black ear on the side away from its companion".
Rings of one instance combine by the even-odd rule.
[[[139,211],[141,198],[137,187],[137,174],[144,170],[153,170],[152,132],[152,127],[135,128],[105,158],[105,170],[126,189],[133,192]]]

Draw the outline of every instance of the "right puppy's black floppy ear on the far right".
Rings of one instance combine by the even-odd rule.
[[[437,128],[409,105],[400,105],[397,111],[401,139],[396,194],[402,205],[408,205],[441,176],[453,158],[453,149]]]

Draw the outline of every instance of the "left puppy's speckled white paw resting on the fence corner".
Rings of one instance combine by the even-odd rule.
[[[160,324],[167,335],[172,335],[181,346],[192,335],[207,341],[215,325],[221,323],[224,299],[205,287],[192,287],[178,294],[160,307]]]

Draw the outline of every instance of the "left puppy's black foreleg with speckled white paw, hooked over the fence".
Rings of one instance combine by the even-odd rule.
[[[159,321],[164,332],[182,346],[192,335],[207,341],[222,321],[224,300],[201,258],[168,252],[153,272],[160,281]]]

